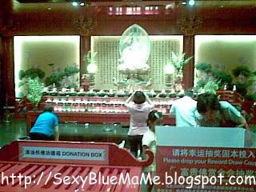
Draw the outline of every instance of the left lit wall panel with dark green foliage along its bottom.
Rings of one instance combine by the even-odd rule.
[[[38,74],[46,86],[78,87],[79,51],[78,35],[14,36],[16,97],[26,94],[26,78]]]

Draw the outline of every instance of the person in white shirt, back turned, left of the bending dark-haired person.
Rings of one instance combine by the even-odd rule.
[[[184,97],[178,98],[170,107],[170,116],[175,118],[176,126],[197,126],[197,102],[193,99],[193,90],[186,90]]]

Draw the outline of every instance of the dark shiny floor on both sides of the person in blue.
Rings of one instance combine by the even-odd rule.
[[[2,119],[1,119],[2,120]],[[108,128],[106,130],[106,128]],[[89,125],[65,123],[59,125],[60,140],[77,142],[115,142],[126,140],[128,128],[119,125]],[[26,136],[26,119],[0,122],[0,147]]]

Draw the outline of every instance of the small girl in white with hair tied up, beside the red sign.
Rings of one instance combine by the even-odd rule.
[[[146,174],[150,174],[151,177],[154,177],[156,165],[155,165],[155,154],[157,150],[155,134],[154,134],[154,126],[162,125],[162,113],[158,112],[157,110],[152,110],[149,114],[147,119],[147,124],[150,127],[150,130],[143,135],[142,138],[142,146],[143,146],[143,154],[146,149],[151,150],[154,153],[154,162],[150,166],[145,168]],[[150,192],[153,188],[149,182],[146,183],[147,191]]]

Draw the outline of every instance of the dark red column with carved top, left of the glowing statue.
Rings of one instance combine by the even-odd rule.
[[[78,34],[80,34],[80,79],[82,74],[86,73],[86,61],[84,55],[90,50],[90,36],[96,26],[96,22],[92,15],[80,14],[74,18],[74,26],[76,26]],[[81,82],[81,81],[80,81]]]

